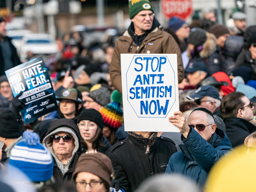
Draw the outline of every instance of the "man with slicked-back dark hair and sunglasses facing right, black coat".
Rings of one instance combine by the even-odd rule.
[[[254,118],[253,109],[253,103],[241,92],[229,93],[221,101],[220,112],[233,147],[243,144],[244,139],[256,131],[256,126],[249,122]]]

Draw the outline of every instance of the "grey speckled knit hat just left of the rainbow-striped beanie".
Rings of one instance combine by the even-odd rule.
[[[100,87],[90,92],[89,97],[102,106],[110,103],[110,91],[106,87]]]

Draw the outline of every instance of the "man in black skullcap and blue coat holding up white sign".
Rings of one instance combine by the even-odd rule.
[[[193,110],[187,121],[177,111],[169,122],[179,128],[183,144],[179,145],[181,151],[170,157],[165,175],[183,174],[203,187],[211,167],[232,150],[227,135],[216,127],[213,114],[205,108]]]

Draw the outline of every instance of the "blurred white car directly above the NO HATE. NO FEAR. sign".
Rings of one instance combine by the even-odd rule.
[[[27,34],[19,47],[20,59],[25,60],[27,52],[31,51],[36,57],[49,56],[58,52],[57,43],[49,34]]]

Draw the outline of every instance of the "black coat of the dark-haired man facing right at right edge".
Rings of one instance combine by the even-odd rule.
[[[231,117],[224,119],[226,125],[226,134],[232,144],[232,147],[236,147],[244,143],[244,139],[252,132],[256,131],[256,126],[249,121]]]

